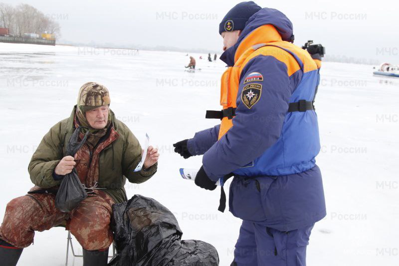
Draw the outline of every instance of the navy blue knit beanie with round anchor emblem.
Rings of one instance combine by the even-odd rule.
[[[221,20],[219,34],[223,31],[243,30],[246,21],[260,9],[262,7],[253,1],[237,3]]]

